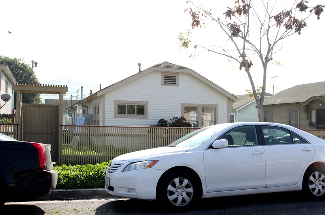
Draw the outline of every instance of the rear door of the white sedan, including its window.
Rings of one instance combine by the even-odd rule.
[[[265,139],[266,186],[297,184],[314,157],[313,146],[281,127],[261,126]]]

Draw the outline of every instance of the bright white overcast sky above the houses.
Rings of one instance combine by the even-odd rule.
[[[67,85],[64,99],[83,98],[155,64],[167,61],[188,67],[231,94],[251,89],[245,71],[235,62],[203,49],[180,48],[178,35],[191,29],[184,12],[187,0],[2,0],[0,55],[24,59],[41,84]],[[197,0],[223,18],[234,0]],[[285,0],[278,0],[285,8]],[[309,0],[309,5],[324,3]],[[199,44],[223,45],[224,34],[213,23],[193,30]],[[325,16],[311,16],[301,35],[281,43],[270,64],[266,92],[280,92],[299,84],[325,81]],[[8,33],[8,31],[11,32]],[[197,56],[189,54],[196,51]],[[256,63],[255,63],[256,62]],[[262,85],[261,68],[254,61],[252,75]],[[272,78],[275,77],[275,78]],[[42,94],[44,99],[57,95]]]

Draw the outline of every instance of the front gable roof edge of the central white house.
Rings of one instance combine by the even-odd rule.
[[[201,76],[200,74],[196,73],[195,71],[193,71],[192,69],[189,69],[187,67],[184,66],[179,66],[179,65],[175,65],[169,62],[162,62],[159,64],[156,64],[150,68],[147,68],[141,72],[138,72],[137,74],[134,74],[126,79],[123,79],[115,84],[112,84],[98,92],[96,92],[97,96],[103,95],[109,91],[112,91],[120,86],[123,86],[124,84],[127,84],[135,79],[138,79],[146,74],[149,74],[153,71],[163,71],[163,72],[176,72],[176,73],[189,73],[192,74],[194,77],[198,78],[199,80],[203,81],[204,83],[206,83],[207,85],[211,86],[212,88],[214,88],[215,90],[219,91],[220,93],[224,94],[225,96],[227,96],[228,98],[236,101],[237,97],[234,96],[233,94],[230,94],[229,92],[227,92],[226,90],[224,90],[223,88],[221,88],[220,86],[216,85],[215,83],[211,82],[210,80],[206,79],[205,77]]]

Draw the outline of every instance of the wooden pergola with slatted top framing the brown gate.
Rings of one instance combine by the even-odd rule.
[[[13,90],[16,92],[16,122],[19,123],[18,140],[22,140],[22,94],[23,93],[40,93],[40,94],[59,94],[59,112],[58,126],[63,124],[63,95],[68,92],[68,86],[46,85],[46,84],[25,84],[13,83]]]

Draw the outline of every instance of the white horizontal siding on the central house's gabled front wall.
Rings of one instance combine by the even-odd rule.
[[[149,126],[181,116],[181,103],[217,104],[218,123],[227,122],[227,97],[191,74],[179,73],[179,86],[161,86],[151,72],[105,94],[105,126]],[[148,119],[114,118],[114,100],[148,102]]]

